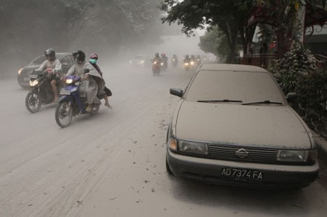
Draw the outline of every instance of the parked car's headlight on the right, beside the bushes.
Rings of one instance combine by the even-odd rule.
[[[294,151],[278,150],[277,161],[279,162],[315,162],[317,150],[313,151]]]

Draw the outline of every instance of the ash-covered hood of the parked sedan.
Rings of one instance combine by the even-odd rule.
[[[289,105],[184,101],[178,112],[176,138],[276,149],[311,149],[308,131]]]

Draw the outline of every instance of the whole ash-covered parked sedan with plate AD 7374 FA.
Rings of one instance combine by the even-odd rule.
[[[274,77],[256,66],[204,64],[167,131],[167,171],[231,186],[302,188],[318,174],[310,129]]]

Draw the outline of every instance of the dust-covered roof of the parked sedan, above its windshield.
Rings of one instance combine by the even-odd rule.
[[[203,64],[199,71],[242,71],[255,73],[268,73],[265,68],[241,64]]]

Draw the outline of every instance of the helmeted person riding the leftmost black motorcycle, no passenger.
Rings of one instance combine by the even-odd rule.
[[[38,67],[38,69],[36,69],[36,71],[47,71],[47,73],[50,73],[51,75],[51,81],[50,84],[52,86],[52,90],[55,96],[54,101],[57,102],[58,101],[58,88],[57,88],[57,84],[59,84],[60,82],[60,75],[62,72],[62,66],[60,61],[56,58],[56,51],[54,51],[53,49],[47,49],[45,51],[45,58],[47,58],[47,60],[45,60],[45,62],[43,62],[43,64],[40,65],[40,67]]]

